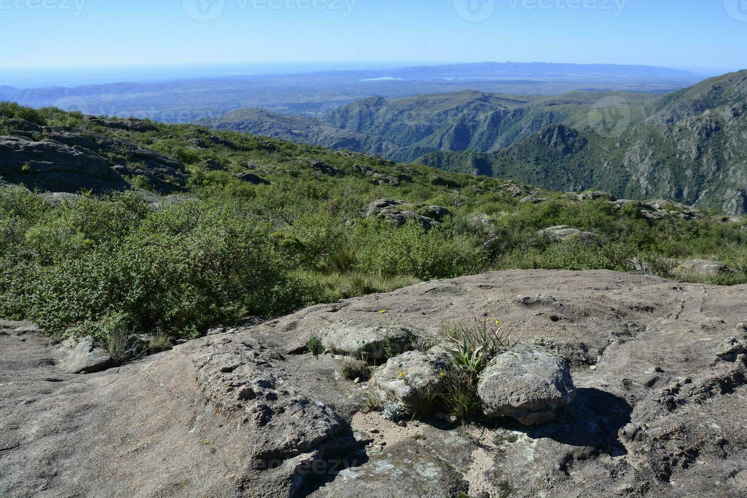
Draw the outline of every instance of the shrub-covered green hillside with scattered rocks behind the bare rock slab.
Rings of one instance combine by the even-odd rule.
[[[583,151],[565,129],[545,140]],[[492,269],[675,277],[700,257],[747,281],[747,219],[196,125],[0,103],[0,177],[0,314],[61,337],[193,336]]]

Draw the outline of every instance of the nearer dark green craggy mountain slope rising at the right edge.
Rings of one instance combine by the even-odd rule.
[[[433,152],[418,162],[747,213],[747,71],[654,99],[645,110],[648,118],[619,134],[556,123],[497,152]]]

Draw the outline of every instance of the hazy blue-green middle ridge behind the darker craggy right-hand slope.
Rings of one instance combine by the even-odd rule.
[[[645,93],[614,93],[633,105],[631,119],[645,118]],[[201,125],[350,149],[394,161],[414,161],[429,152],[494,152],[562,122],[585,124],[589,108],[610,93],[574,92],[560,96],[520,96],[464,90],[386,100],[362,99],[320,116],[288,116],[243,109]]]

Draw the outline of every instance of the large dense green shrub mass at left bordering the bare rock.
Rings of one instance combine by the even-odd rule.
[[[127,200],[84,198],[30,228],[22,255],[37,266],[28,287],[16,289],[16,308],[56,334],[83,327],[106,335],[114,312],[139,330],[160,324],[194,335],[306,302],[309,287],[289,276],[257,220],[196,203],[140,219]]]

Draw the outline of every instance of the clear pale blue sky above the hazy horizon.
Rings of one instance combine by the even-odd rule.
[[[0,46],[5,68],[484,60],[747,68],[747,0],[0,0]]]

